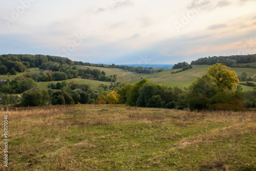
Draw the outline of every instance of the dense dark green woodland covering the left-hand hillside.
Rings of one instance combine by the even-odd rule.
[[[49,55],[0,55],[0,75],[16,75],[29,68],[39,68],[40,74],[25,73],[24,76],[34,81],[60,81],[72,78],[95,79],[100,81],[115,82],[117,75],[106,76],[105,72],[98,69],[79,68],[74,61]]]

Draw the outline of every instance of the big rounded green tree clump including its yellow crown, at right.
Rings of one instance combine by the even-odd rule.
[[[189,86],[190,109],[241,110],[243,93],[237,89],[239,80],[234,71],[217,63],[208,68],[208,73],[197,78]]]

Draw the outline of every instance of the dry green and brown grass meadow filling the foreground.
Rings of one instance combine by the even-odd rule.
[[[256,170],[255,112],[75,105],[4,115],[9,170]]]

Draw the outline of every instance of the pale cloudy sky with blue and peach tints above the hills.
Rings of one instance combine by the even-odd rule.
[[[0,0],[0,54],[190,63],[256,53],[255,0]]]

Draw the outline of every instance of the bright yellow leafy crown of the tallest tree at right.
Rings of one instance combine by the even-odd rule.
[[[210,66],[208,74],[215,78],[215,82],[219,89],[223,90],[236,90],[239,79],[236,72],[231,71],[229,67],[216,63]]]

